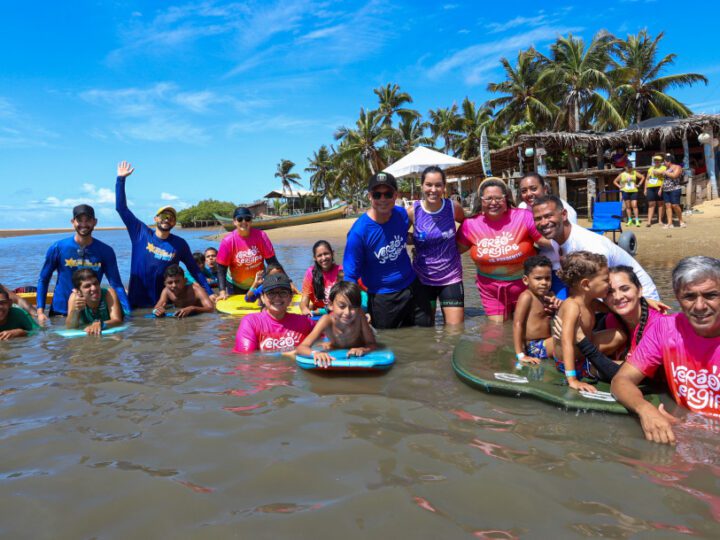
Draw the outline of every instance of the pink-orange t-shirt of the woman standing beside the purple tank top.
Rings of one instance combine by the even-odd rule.
[[[470,257],[480,275],[504,281],[522,277],[523,263],[536,254],[533,243],[540,238],[532,212],[520,208],[509,208],[495,221],[483,214],[466,219],[455,236],[471,247]]]

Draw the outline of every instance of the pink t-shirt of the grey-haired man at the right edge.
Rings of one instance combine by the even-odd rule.
[[[675,401],[720,416],[720,337],[700,337],[683,313],[661,317],[643,334],[629,362],[646,377],[665,368]]]

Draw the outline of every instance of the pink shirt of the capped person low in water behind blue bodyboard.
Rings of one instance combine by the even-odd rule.
[[[233,352],[287,352],[297,347],[312,330],[305,315],[286,313],[282,320],[273,319],[267,311],[245,315],[235,335]]]

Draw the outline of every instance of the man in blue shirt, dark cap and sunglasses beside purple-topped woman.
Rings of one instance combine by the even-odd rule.
[[[348,232],[343,270],[345,279],[362,278],[368,289],[368,312],[376,328],[415,324],[413,300],[416,282],[407,253],[410,221],[404,208],[395,206],[397,182],[377,173],[368,183],[370,209]]]

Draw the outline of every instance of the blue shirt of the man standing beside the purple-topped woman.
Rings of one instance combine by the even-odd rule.
[[[407,254],[410,227],[404,208],[393,208],[387,223],[377,223],[363,214],[347,236],[343,270],[345,279],[362,278],[368,292],[388,294],[408,287],[415,272]]]

